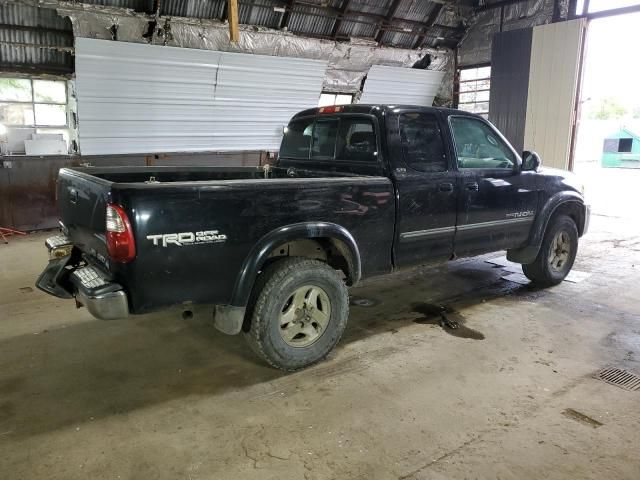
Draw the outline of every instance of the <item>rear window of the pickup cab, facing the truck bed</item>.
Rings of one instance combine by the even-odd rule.
[[[375,164],[377,145],[373,120],[368,116],[306,117],[285,128],[280,157]]]

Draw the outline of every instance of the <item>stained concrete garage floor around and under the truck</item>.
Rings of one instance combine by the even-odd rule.
[[[592,378],[640,373],[628,219],[593,218],[580,283],[473,259],[356,288],[336,351],[294,374],[205,315],[100,322],[35,290],[45,236],[0,245],[0,478],[640,478],[640,392]]]

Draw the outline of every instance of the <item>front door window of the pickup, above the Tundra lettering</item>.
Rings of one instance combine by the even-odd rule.
[[[508,169],[516,157],[506,143],[485,122],[472,117],[451,117],[458,168]]]

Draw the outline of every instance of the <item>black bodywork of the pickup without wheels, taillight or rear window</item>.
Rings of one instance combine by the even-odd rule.
[[[303,111],[292,124],[368,118],[375,161],[281,156],[273,169],[61,170],[58,201],[72,258],[121,286],[130,313],[214,304],[220,306],[218,326],[237,333],[256,277],[282,256],[321,259],[351,285],[398,268],[497,250],[527,263],[558,212],[575,219],[580,235],[586,229],[588,212],[577,182],[552,169],[525,171],[519,154],[480,117],[410,106],[321,113]],[[465,160],[467,145],[452,134],[459,121],[488,129],[492,141],[508,150],[508,166],[480,168]],[[424,151],[411,150],[407,136],[420,128],[437,141],[421,146]],[[130,222],[132,261],[110,258],[110,204],[120,206]],[[56,278],[63,274],[61,267]],[[49,283],[39,286],[56,294],[55,282]],[[67,291],[73,288],[67,284]]]

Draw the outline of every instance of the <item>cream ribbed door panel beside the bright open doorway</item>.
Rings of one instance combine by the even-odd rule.
[[[524,148],[551,167],[569,167],[585,25],[578,19],[533,29]]]

